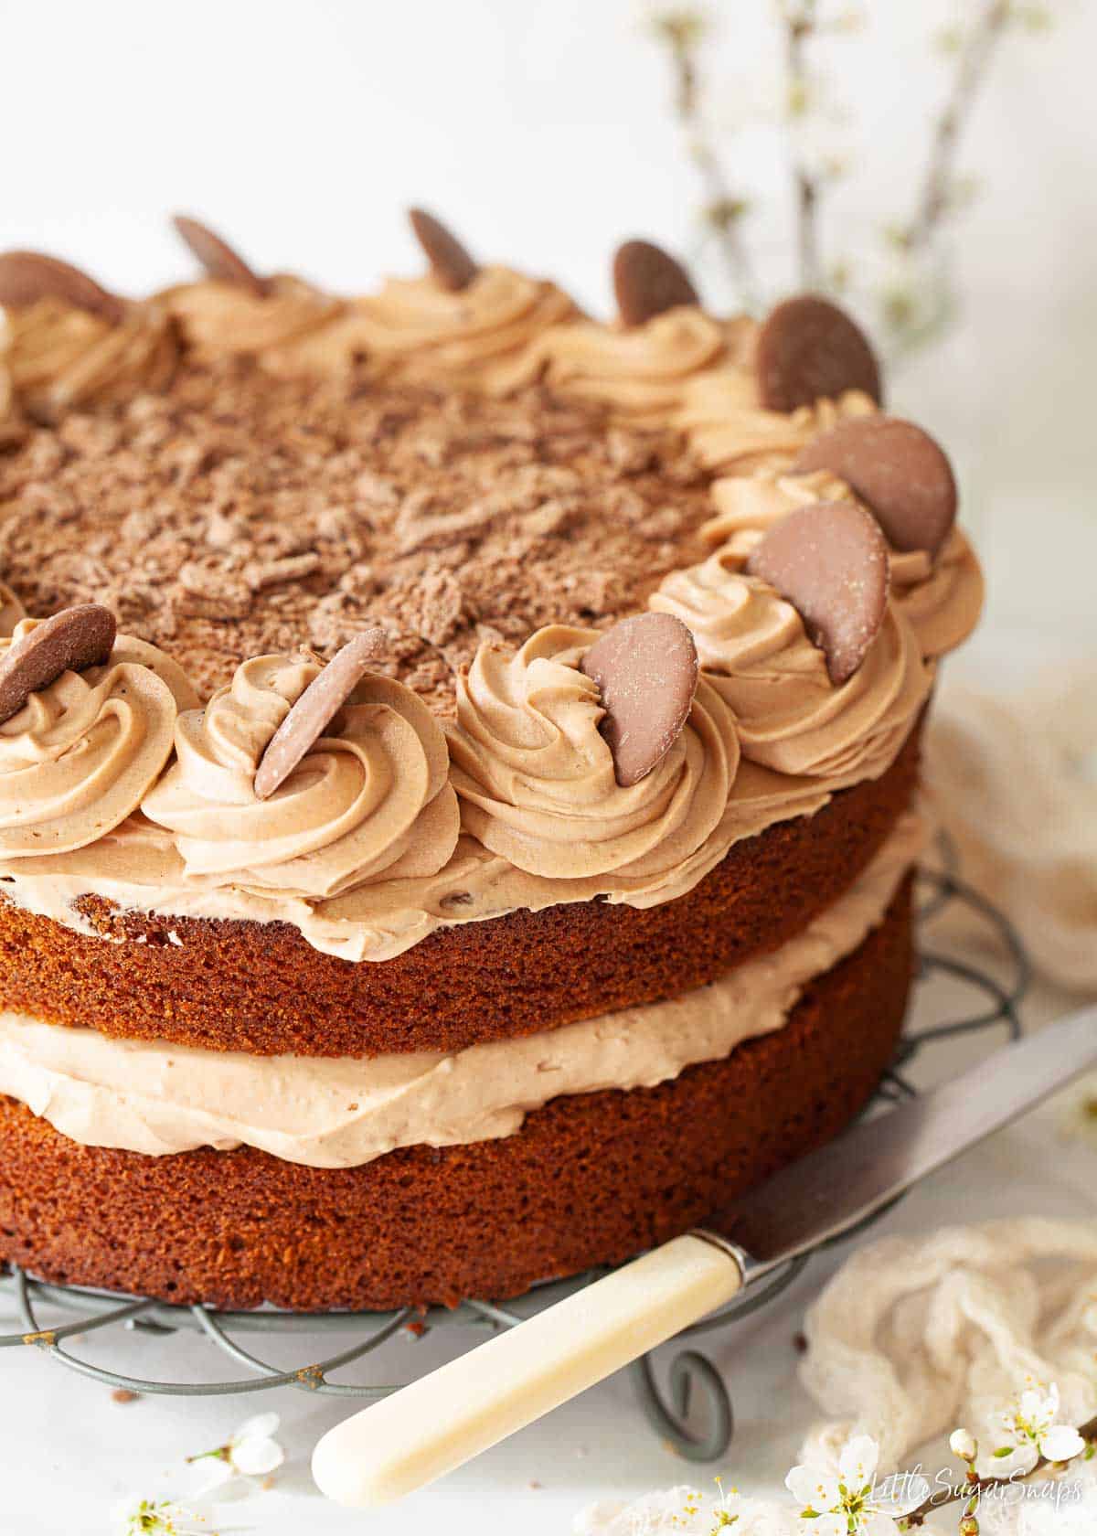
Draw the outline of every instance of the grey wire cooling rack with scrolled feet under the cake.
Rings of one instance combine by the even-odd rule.
[[[919,931],[926,935],[920,949],[919,988],[939,985],[943,978],[962,983],[973,991],[979,1006],[973,1006],[957,1018],[913,1031],[903,1037],[894,1061],[870,1106],[871,1112],[887,1112],[890,1104],[900,1103],[916,1094],[906,1077],[914,1058],[925,1058],[936,1046],[962,1035],[1003,1034],[1017,1038],[1020,1018],[1017,1006],[1029,980],[1025,951],[1006,919],[957,874],[957,859],[946,840],[939,840],[939,865],[919,872]],[[934,949],[928,928],[945,909],[962,908],[965,917],[977,922],[996,948],[1005,957],[1006,980],[1000,982],[985,966],[976,966],[956,958],[945,949]],[[1000,966],[996,965],[996,969]],[[879,1220],[879,1212],[865,1226]],[[845,1233],[840,1241],[850,1233]],[[817,1252],[817,1250],[816,1250]],[[727,1307],[693,1327],[684,1329],[673,1344],[681,1349],[670,1359],[665,1372],[665,1387],[661,1387],[650,1355],[631,1367],[639,1404],[648,1422],[661,1439],[668,1442],[688,1461],[713,1461],[724,1455],[734,1433],[734,1415],[727,1384],[713,1362],[693,1347],[694,1341],[730,1322],[757,1312],[787,1290],[810,1264],[813,1255],[791,1260],[761,1289],[751,1289]],[[318,1392],[340,1398],[384,1398],[396,1392],[396,1385],[369,1382],[332,1381],[333,1372],[370,1355],[386,1339],[403,1333],[421,1338],[436,1327],[466,1327],[472,1333],[499,1332],[516,1327],[544,1306],[552,1306],[575,1290],[590,1284],[604,1270],[590,1270],[570,1279],[538,1286],[525,1296],[507,1306],[487,1301],[464,1301],[456,1309],[432,1307],[426,1312],[406,1307],[399,1312],[330,1312],[293,1313],[275,1309],[254,1312],[221,1312],[204,1306],[171,1306],[149,1296],[120,1296],[80,1286],[51,1286],[34,1279],[17,1267],[0,1273],[0,1298],[14,1301],[22,1329],[17,1333],[0,1335],[0,1349],[31,1347],[43,1358],[68,1370],[91,1376],[108,1387],[134,1393],[164,1396],[227,1396],[247,1392],[269,1392],[275,1387],[293,1387],[300,1392]],[[58,1321],[45,1322],[43,1313],[60,1315]],[[237,1370],[215,1381],[160,1381],[131,1376],[74,1353],[91,1333],[124,1329],[140,1335],[147,1347],[155,1350],[157,1341],[181,1330],[203,1335]],[[353,1341],[323,1359],[310,1358],[306,1364],[283,1369],[263,1359],[254,1347],[241,1339],[263,1339],[295,1333],[335,1335],[350,1333]],[[114,1333],[118,1338],[118,1333]],[[101,1341],[100,1341],[101,1342]],[[315,1342],[315,1341],[313,1341]],[[479,1342],[479,1338],[470,1342]]]

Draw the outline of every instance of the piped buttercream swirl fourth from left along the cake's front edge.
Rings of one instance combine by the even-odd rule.
[[[831,790],[879,777],[933,687],[914,631],[890,601],[865,660],[834,687],[796,608],[745,573],[757,538],[739,535],[701,565],[673,571],[650,607],[693,631],[702,671],[734,713],[750,762],[824,779]]]

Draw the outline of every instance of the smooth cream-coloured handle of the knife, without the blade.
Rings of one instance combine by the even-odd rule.
[[[433,1482],[730,1301],[734,1249],[687,1233],[344,1419],[312,1475],[366,1508]]]

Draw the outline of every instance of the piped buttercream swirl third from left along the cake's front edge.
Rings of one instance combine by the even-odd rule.
[[[650,880],[687,863],[721,823],[739,765],[734,720],[702,684],[647,777],[616,782],[604,716],[579,660],[598,634],[550,625],[516,653],[481,645],[447,728],[462,825],[518,869],[548,879]]]

